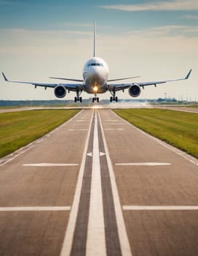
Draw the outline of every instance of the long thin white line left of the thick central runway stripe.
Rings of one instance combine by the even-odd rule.
[[[93,111],[92,111],[92,118],[93,118]],[[74,195],[74,201],[73,201],[73,205],[71,207],[71,213],[70,213],[70,217],[69,217],[69,221],[68,221],[68,226],[66,229],[65,238],[63,241],[63,246],[62,246],[62,249],[60,252],[60,256],[69,256],[70,252],[71,252],[71,246],[72,246],[72,242],[73,242],[74,230],[75,230],[75,225],[76,225],[76,217],[77,217],[78,210],[79,210],[79,200],[80,200],[80,194],[81,194],[81,189],[82,189],[82,178],[83,178],[83,174],[84,174],[85,159],[87,157],[87,148],[88,148],[90,132],[91,132],[91,127],[92,127],[92,118],[90,120],[90,128],[89,128],[89,131],[87,134],[87,139],[85,141],[84,151],[83,151],[83,155],[82,155],[82,163],[81,163],[81,167],[79,170],[78,181],[76,184],[76,192]]]

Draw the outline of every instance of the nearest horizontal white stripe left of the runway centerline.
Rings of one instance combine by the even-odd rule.
[[[70,211],[70,206],[0,207],[0,211]]]

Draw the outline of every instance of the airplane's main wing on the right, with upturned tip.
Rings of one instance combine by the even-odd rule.
[[[179,81],[179,80],[186,80],[191,75],[191,70],[188,72],[185,78],[176,78],[176,79],[169,79],[169,80],[157,80],[157,81],[151,81],[151,82],[135,82],[135,83],[109,83],[108,89],[110,91],[120,91],[129,88],[132,85],[138,85],[140,87],[144,86],[157,86],[157,84],[167,83],[167,82],[173,82],[173,81]]]

